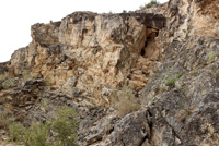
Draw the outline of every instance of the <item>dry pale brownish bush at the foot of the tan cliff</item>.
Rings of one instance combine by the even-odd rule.
[[[113,93],[112,106],[120,117],[140,109],[140,104],[137,102],[134,90],[128,86],[124,86],[120,90]]]

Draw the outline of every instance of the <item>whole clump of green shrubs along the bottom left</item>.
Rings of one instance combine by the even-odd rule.
[[[57,118],[53,122],[32,123],[30,127],[12,123],[9,126],[10,137],[25,146],[77,146],[76,117],[73,108],[65,107],[57,110]]]

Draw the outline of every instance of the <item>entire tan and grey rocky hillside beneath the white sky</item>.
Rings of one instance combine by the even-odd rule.
[[[219,0],[170,0],[35,24],[32,42],[0,64],[0,109],[30,126],[73,107],[81,146],[218,146],[218,20]],[[119,114],[131,105],[114,106],[118,90],[140,107]]]

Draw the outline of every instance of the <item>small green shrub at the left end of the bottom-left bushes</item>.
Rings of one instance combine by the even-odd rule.
[[[12,123],[9,125],[10,138],[12,141],[21,141],[24,127],[20,123]]]

